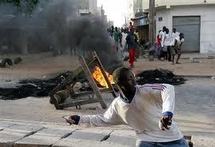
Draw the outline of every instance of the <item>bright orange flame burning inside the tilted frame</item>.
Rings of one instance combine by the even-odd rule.
[[[113,82],[113,76],[110,75],[110,74],[109,74],[108,72],[106,72],[106,71],[105,71],[105,73],[106,73],[106,75],[107,75],[107,77],[108,77],[110,83],[111,83],[111,84],[114,84],[114,82]],[[102,71],[101,71],[101,69],[100,69],[98,66],[96,66],[95,69],[94,69],[94,71],[93,71],[93,78],[94,78],[97,82],[99,82],[99,84],[100,84],[101,86],[106,87],[106,88],[109,88],[109,86],[108,86],[108,84],[107,84],[107,82],[106,82],[106,80],[105,80],[105,77],[103,76]]]

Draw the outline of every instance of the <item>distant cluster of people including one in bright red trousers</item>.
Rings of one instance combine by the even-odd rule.
[[[114,48],[119,54],[120,58],[124,58],[124,53],[128,52],[129,66],[134,67],[134,61],[136,58],[136,48],[138,47],[139,35],[134,31],[132,23],[128,28],[118,29],[111,26],[108,30],[110,36],[114,40]]]

